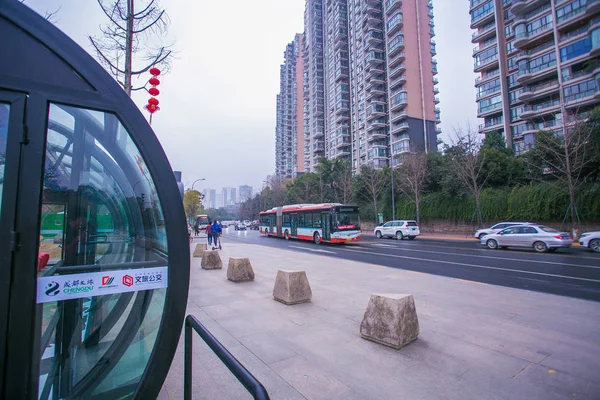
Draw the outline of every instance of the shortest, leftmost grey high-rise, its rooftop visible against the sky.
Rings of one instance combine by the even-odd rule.
[[[303,35],[297,34],[286,46],[279,74],[275,172],[284,178],[295,177],[304,171],[302,38]]]

